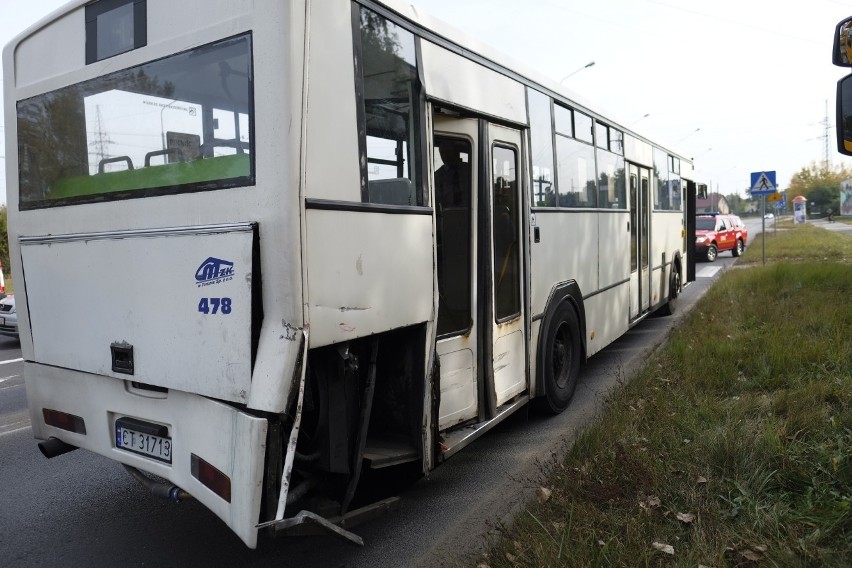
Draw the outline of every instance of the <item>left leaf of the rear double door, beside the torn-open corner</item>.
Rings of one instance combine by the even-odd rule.
[[[432,147],[438,272],[438,428],[479,417],[479,325],[476,322],[478,121],[435,114]]]

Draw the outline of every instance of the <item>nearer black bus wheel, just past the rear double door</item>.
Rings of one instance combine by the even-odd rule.
[[[537,399],[536,405],[542,412],[559,414],[574,395],[582,357],[580,325],[570,303],[563,302],[556,309],[540,353],[545,396]]]

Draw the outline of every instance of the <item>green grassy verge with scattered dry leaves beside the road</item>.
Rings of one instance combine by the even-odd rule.
[[[852,238],[802,225],[766,250],[612,395],[480,566],[852,565]]]

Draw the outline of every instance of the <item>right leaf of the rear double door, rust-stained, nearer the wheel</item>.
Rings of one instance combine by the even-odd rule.
[[[489,375],[500,407],[527,388],[526,339],[522,301],[521,244],[523,200],[520,169],[521,134],[490,124],[489,200],[491,227],[491,357]],[[483,263],[485,264],[485,263]],[[481,267],[480,269],[484,269]]]

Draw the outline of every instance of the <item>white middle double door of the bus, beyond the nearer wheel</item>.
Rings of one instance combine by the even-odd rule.
[[[651,306],[649,267],[650,179],[648,168],[628,164],[630,192],[630,319],[636,319]]]

